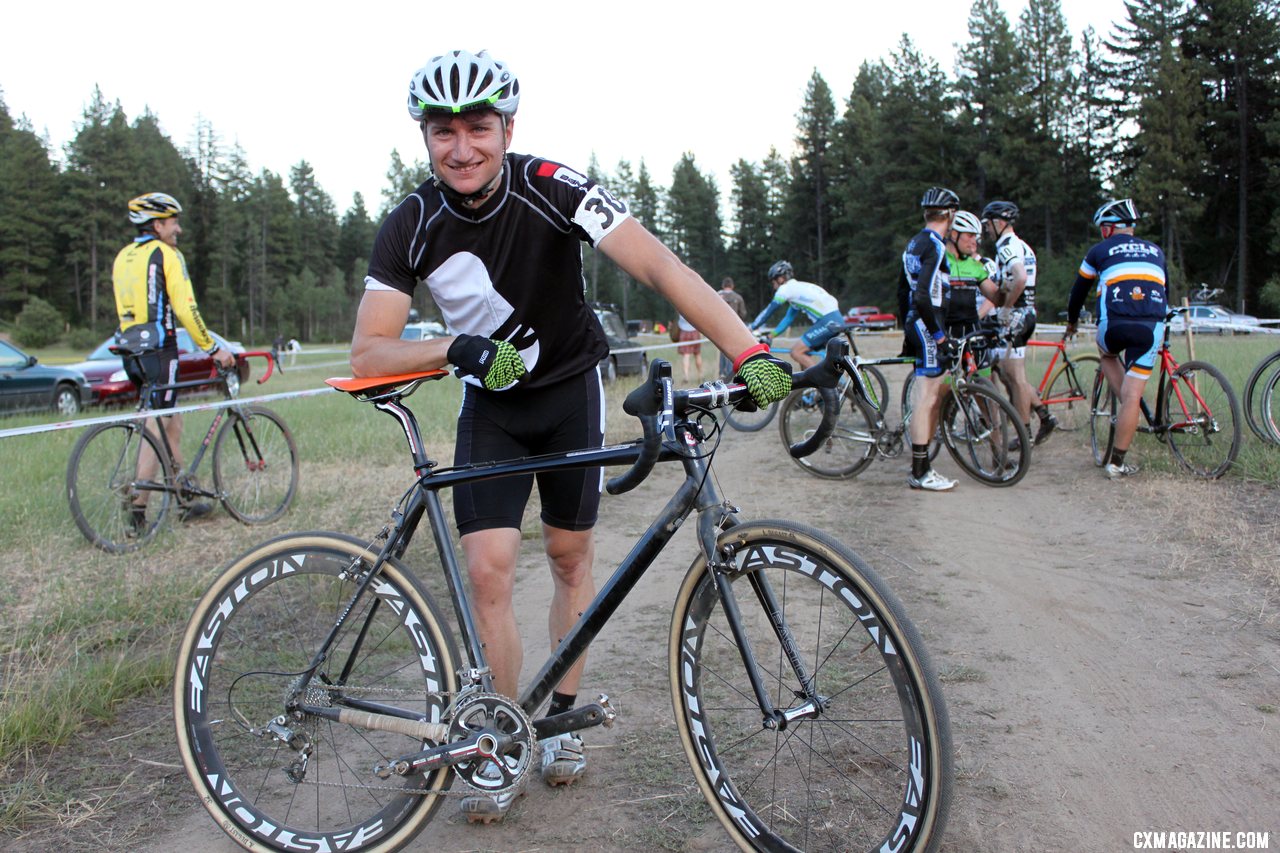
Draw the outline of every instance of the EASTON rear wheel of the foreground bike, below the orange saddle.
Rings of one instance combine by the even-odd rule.
[[[178,751],[205,808],[247,849],[396,850],[452,781],[447,768],[383,779],[376,766],[434,744],[307,710],[440,721],[457,690],[453,640],[408,570],[387,561],[355,598],[371,562],[351,537],[280,537],[232,562],[187,624]]]

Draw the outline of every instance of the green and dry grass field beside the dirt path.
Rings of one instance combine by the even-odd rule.
[[[1280,338],[1272,336],[1197,338],[1196,355],[1220,366],[1240,396],[1253,365],[1277,346]],[[1179,360],[1187,360],[1185,347],[1179,338]],[[704,362],[716,364],[709,347]],[[1036,364],[1029,364],[1029,375],[1039,375]],[[242,396],[317,388],[325,377],[347,374],[340,351],[303,353],[268,386],[247,383]],[[611,442],[639,432],[621,414],[621,400],[635,384],[628,377],[608,389]],[[410,398],[429,452],[445,464],[452,459],[458,400],[460,383],[452,379],[426,383]],[[216,525],[195,525],[183,537],[161,534],[142,552],[123,557],[96,551],[72,524],[64,478],[79,429],[0,439],[0,838],[59,820],[83,797],[67,781],[74,774],[65,772],[77,738],[113,721],[131,699],[163,699],[178,633],[219,565],[285,532],[367,534],[410,484],[403,434],[372,407],[339,393],[269,405],[289,424],[302,460],[291,512],[265,528],[220,517]],[[86,416],[101,414],[90,410]],[[187,415],[187,459],[211,418]],[[6,418],[0,429],[45,420]],[[1274,488],[1280,482],[1280,447],[1262,444],[1243,423],[1242,429],[1243,450],[1225,480]],[[1175,470],[1167,448],[1153,438],[1139,437],[1137,448],[1144,466]],[[146,736],[172,738],[172,733],[156,726]]]

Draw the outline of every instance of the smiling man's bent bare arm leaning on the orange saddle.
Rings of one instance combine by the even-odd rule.
[[[448,364],[453,338],[401,341],[411,300],[399,291],[365,291],[351,338],[351,371],[356,377],[390,377],[435,370]]]

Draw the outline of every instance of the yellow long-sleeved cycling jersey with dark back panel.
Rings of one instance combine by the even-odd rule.
[[[177,347],[180,323],[197,347],[206,352],[216,347],[196,307],[187,259],[155,234],[142,234],[120,250],[111,268],[111,284],[122,330],[147,324],[161,346]]]

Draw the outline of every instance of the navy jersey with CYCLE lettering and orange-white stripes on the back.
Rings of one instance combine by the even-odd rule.
[[[1080,263],[1071,288],[1070,307],[1079,316],[1089,286],[1098,298],[1098,319],[1164,320],[1167,265],[1165,252],[1133,234],[1111,234],[1094,245]]]

